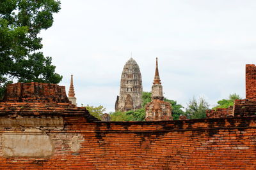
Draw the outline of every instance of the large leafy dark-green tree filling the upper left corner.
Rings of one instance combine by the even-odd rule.
[[[53,13],[60,10],[60,1],[0,1],[0,97],[7,83],[17,81],[59,83],[62,79],[52,66],[51,57],[44,57],[42,29],[52,26]]]

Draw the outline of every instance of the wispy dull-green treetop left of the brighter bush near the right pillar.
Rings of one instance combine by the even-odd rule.
[[[206,110],[209,110],[209,104],[203,97],[200,97],[196,101],[195,97],[189,101],[188,107],[186,108],[185,115],[188,118],[205,118]]]

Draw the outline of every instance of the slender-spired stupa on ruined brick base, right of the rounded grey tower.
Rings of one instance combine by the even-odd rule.
[[[156,72],[151,91],[151,102],[146,104],[147,121],[172,120],[172,106],[164,101],[163,86],[158,71],[158,63],[156,58]]]

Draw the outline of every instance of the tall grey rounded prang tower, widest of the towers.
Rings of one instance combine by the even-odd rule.
[[[120,96],[116,97],[115,110],[129,111],[141,108],[142,80],[140,67],[134,59],[125,65],[120,82]]]

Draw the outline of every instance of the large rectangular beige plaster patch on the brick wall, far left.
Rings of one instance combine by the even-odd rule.
[[[3,134],[4,157],[50,157],[54,152],[46,134]]]

